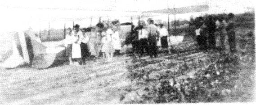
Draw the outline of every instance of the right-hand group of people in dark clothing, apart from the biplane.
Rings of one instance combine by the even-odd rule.
[[[198,20],[195,33],[201,50],[215,50],[217,48],[216,36],[220,37],[220,50],[225,50],[225,36],[227,35],[230,53],[236,51],[233,13],[229,13],[226,19],[225,17],[213,17],[210,15],[207,19],[198,17]]]

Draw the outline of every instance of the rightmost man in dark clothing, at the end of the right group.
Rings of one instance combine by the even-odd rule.
[[[234,53],[236,51],[234,16],[235,15],[233,13],[228,14],[228,23],[226,27],[228,38],[229,38],[229,50],[231,53]]]

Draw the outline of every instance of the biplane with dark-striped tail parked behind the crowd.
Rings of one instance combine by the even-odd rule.
[[[152,10],[152,11],[136,11],[135,16],[140,19],[145,19],[148,17],[153,17],[156,14],[168,14],[168,30],[170,29],[169,15],[183,14],[183,13],[194,13],[208,11],[208,5],[199,5],[199,6],[190,6],[182,8],[167,8],[161,10]],[[133,25],[132,19],[131,22],[121,23],[120,29],[120,38],[125,39],[127,35],[130,35],[131,27]],[[138,22],[139,25],[139,22]],[[95,28],[95,26],[94,26]],[[96,29],[93,30],[96,32]],[[170,32],[170,30],[169,30]],[[183,41],[183,36],[171,36],[169,33],[169,41],[171,44],[177,44]],[[37,40],[34,34],[17,32],[13,34],[13,47],[12,55],[9,55],[3,64],[5,68],[14,68],[18,65],[27,63],[33,68],[44,69],[51,66],[54,61],[63,60],[67,58],[65,56],[65,47],[58,46],[58,42],[40,42]],[[12,59],[22,59],[24,62],[13,64]]]

